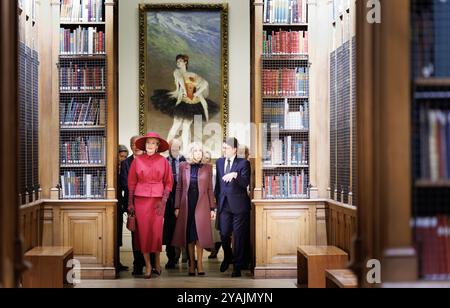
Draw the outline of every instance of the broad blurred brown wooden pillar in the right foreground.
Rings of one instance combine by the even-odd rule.
[[[367,22],[368,2],[357,1],[359,194],[352,269],[362,286],[373,287],[365,279],[368,260],[382,262],[384,282],[416,280],[417,260],[410,253],[410,1],[381,0],[379,24]]]

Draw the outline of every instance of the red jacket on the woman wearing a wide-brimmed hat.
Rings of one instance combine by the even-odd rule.
[[[133,161],[128,174],[128,190],[134,191],[134,196],[167,201],[172,186],[172,169],[160,154],[144,154]]]

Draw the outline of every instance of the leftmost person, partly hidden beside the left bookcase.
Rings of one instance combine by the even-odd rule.
[[[128,158],[128,148],[124,145],[119,145],[119,149],[118,149],[118,162],[119,162],[119,166],[117,168],[117,176],[118,178],[120,177],[120,166],[122,164],[123,161],[125,161]],[[121,188],[120,188],[120,183],[119,183],[119,193],[118,193],[118,198],[117,198],[117,226],[116,226],[116,230],[117,230],[117,245],[116,245],[116,260],[117,260],[117,272],[123,272],[123,271],[128,271],[128,267],[124,266],[121,262],[120,262],[120,247],[123,246],[123,215],[126,213],[127,211],[127,201],[125,201],[125,199],[123,198],[123,194],[121,194]]]

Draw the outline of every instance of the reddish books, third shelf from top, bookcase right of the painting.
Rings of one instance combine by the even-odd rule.
[[[266,96],[308,96],[309,69],[264,69],[262,86]]]

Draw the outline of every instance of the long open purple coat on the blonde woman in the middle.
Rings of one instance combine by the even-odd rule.
[[[195,222],[200,246],[202,248],[214,247],[211,230],[211,210],[216,208],[216,202],[212,183],[213,168],[211,165],[203,165],[198,171],[198,203],[195,210]],[[175,209],[180,213],[175,225],[175,233],[172,245],[186,247],[186,230],[188,220],[188,192],[191,182],[191,165],[180,165],[180,179],[175,196]]]

